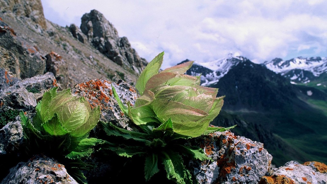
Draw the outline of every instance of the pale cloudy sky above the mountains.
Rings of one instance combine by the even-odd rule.
[[[96,9],[140,57],[165,51],[163,68],[232,53],[262,63],[276,57],[327,56],[324,0],[41,0],[45,18],[80,26]]]

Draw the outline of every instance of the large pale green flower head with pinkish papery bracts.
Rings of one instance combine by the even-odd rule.
[[[192,61],[159,72],[162,62],[163,52],[141,73],[136,83],[141,96],[128,108],[129,117],[137,125],[162,124],[171,119],[175,133],[202,135],[219,114],[223,97],[216,98],[216,88],[200,86],[200,76],[184,74]]]

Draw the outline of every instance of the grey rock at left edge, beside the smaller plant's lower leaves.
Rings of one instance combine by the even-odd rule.
[[[11,121],[0,129],[0,155],[18,153],[23,143],[24,133],[20,120]]]

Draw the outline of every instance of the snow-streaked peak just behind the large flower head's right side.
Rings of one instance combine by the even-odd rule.
[[[237,56],[214,60],[206,63],[195,62],[193,66],[186,72],[186,74],[192,76],[201,75],[201,85],[207,86],[213,83],[217,83],[219,79],[226,75],[232,67],[245,60],[246,58]],[[183,62],[187,61],[189,60],[185,60]]]

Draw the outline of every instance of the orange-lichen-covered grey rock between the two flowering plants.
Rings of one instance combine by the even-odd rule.
[[[90,80],[75,85],[72,94],[85,97],[91,108],[100,106],[100,121],[116,123],[122,128],[131,130],[129,118],[120,110],[116,99],[113,97],[111,85],[114,86],[118,96],[126,106],[128,103],[131,106],[134,105],[137,98],[136,91],[124,81],[116,84],[103,79]]]

